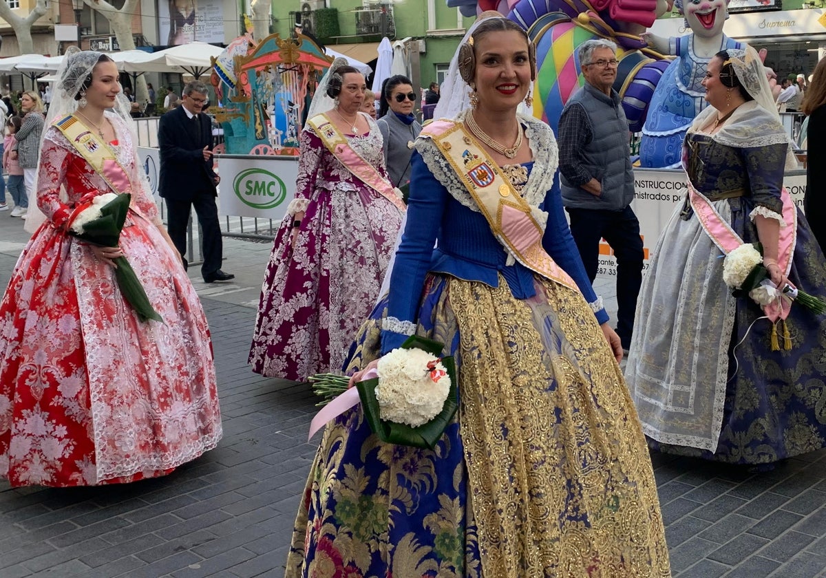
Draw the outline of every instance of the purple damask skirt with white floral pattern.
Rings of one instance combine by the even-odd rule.
[[[316,189],[292,245],[292,216],[273,241],[249,364],[267,377],[304,381],[340,372],[376,303],[402,214],[365,186]]]

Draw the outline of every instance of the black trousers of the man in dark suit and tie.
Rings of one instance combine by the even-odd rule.
[[[204,253],[204,262],[201,274],[206,276],[221,268],[221,253],[224,245],[221,239],[221,225],[218,222],[218,206],[216,197],[211,191],[198,192],[192,201],[166,201],[167,230],[175,249],[181,253],[183,268],[187,268],[187,226],[192,208],[201,225],[201,246]]]

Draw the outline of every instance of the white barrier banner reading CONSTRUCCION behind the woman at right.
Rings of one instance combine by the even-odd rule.
[[[786,174],[783,180],[795,205],[803,210],[806,192],[806,173],[798,170]],[[634,201],[631,208],[639,220],[639,233],[643,238],[643,271],[657,247],[657,239],[671,219],[677,205],[686,197],[686,173],[681,170],[634,169]],[[600,263],[597,277],[616,277],[616,262],[605,241],[600,244]]]

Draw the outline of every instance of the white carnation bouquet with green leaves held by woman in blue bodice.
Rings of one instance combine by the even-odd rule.
[[[442,344],[417,336],[378,360],[377,377],[356,384],[365,418],[387,443],[434,448],[458,409],[456,366],[439,357]],[[347,390],[348,377],[323,373],[309,380],[327,405]]]

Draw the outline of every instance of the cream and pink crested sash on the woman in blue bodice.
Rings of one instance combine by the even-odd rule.
[[[579,291],[577,283],[545,252],[544,231],[534,220],[528,203],[462,123],[433,121],[422,130],[422,136],[433,140],[482,210],[493,235],[517,261],[543,277]]]

